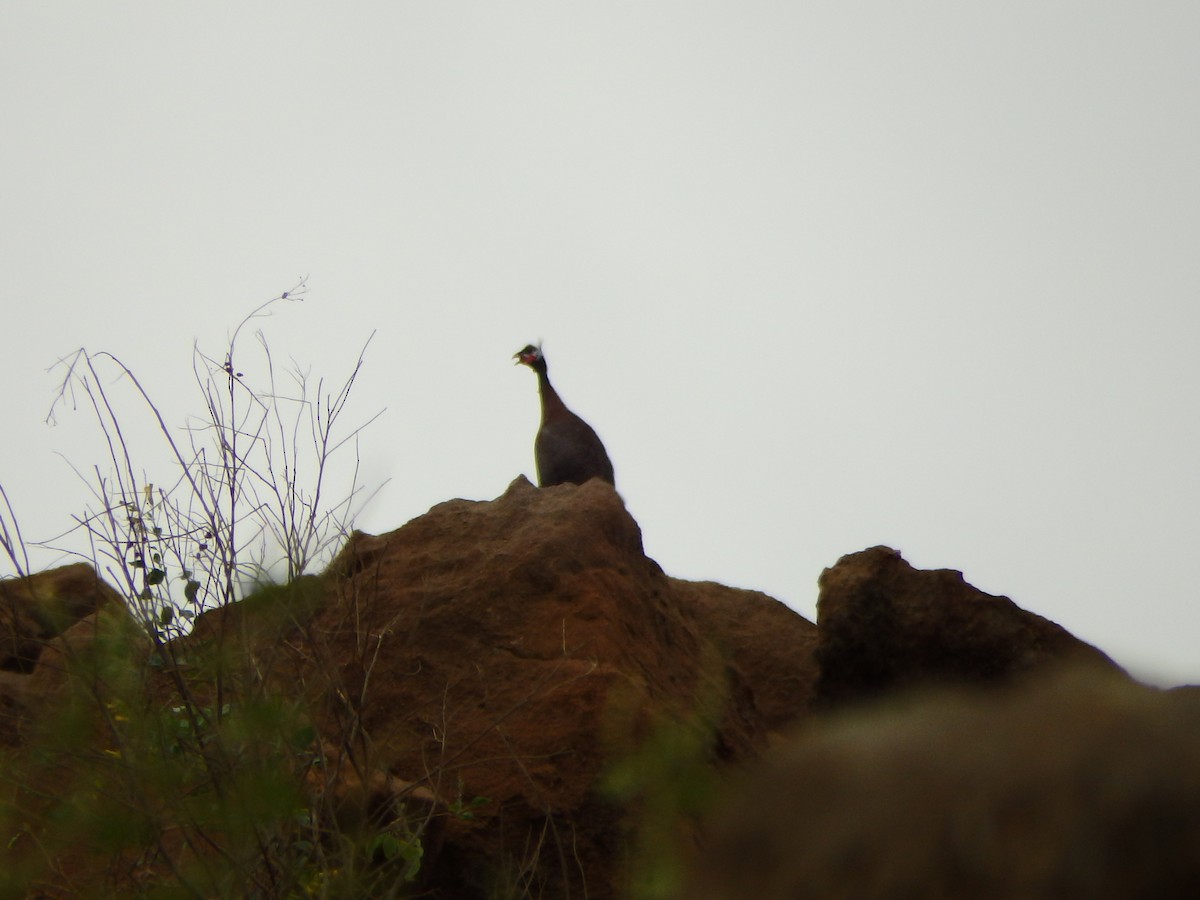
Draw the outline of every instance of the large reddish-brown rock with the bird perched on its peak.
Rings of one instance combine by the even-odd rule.
[[[317,587],[299,626],[233,626],[230,608],[191,640],[257,634],[259,671],[306,697],[362,782],[449,810],[424,865],[433,896],[512,878],[545,898],[620,895],[637,816],[605,790],[614,761],[664,722],[712,720],[701,762],[740,763],[811,695],[811,623],[665,576],[599,480],[521,478],[493,502],[355,534]]]

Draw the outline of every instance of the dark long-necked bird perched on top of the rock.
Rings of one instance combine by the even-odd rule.
[[[539,487],[582,485],[599,478],[616,486],[612,462],[592,426],[566,408],[546,374],[546,356],[541,344],[526,344],[512,354],[516,365],[529,366],[538,373],[541,397],[541,426],[533,442]]]

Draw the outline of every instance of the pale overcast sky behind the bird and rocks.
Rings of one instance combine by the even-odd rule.
[[[532,476],[544,338],[668,574],[811,618],[888,544],[1200,680],[1198,161],[1192,0],[6,0],[0,481],[61,530],[54,360],[182,424],[307,275],[367,530]]]

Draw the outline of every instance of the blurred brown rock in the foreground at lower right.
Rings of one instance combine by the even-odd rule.
[[[810,720],[689,900],[1200,896],[1200,694],[1094,666]]]

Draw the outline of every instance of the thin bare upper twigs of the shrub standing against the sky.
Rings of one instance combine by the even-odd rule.
[[[304,294],[301,281],[258,306],[220,356],[193,348],[204,413],[186,419],[181,430],[168,425],[148,386],[114,354],[82,348],[59,364],[62,382],[48,420],[68,407],[89,409],[108,467],[95,466],[90,475],[76,469],[92,504],[55,542],[82,533],[139,619],[163,637],[185,632],[200,612],[236,601],[271,572],[287,583],[328,562],[370,499],[358,481],[355,452],[349,490],[340,500],[325,500],[335,461],[356,449],[361,431],[379,415],[342,428],[370,338],[336,388],[323,378],[313,388],[298,366],[277,371],[260,330],[258,354],[242,359],[244,329]],[[116,394],[115,385],[132,397]],[[160,454],[128,437],[134,413],[149,415],[150,433],[169,460],[157,480],[137,457]]]

